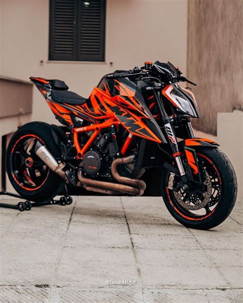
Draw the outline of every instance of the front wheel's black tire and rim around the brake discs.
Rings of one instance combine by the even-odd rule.
[[[188,201],[185,201],[185,207],[182,206],[183,203],[178,203],[178,197],[183,197],[184,193],[181,191],[178,195],[168,188],[169,170],[163,172],[160,189],[167,209],[179,223],[189,228],[207,230],[218,226],[229,217],[236,200],[237,181],[230,160],[219,148],[197,148],[196,154],[211,179],[211,197],[204,206],[205,210],[191,211],[189,209],[193,208],[193,203],[191,207],[187,207]]]

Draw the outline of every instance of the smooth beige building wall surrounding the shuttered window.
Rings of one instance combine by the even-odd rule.
[[[142,66],[145,60],[170,60],[186,72],[187,0],[107,0],[102,63],[49,62],[49,1],[0,1],[5,76],[62,79],[71,91],[88,97],[104,74]],[[112,67],[109,62],[114,62]],[[33,94],[32,120],[55,122],[42,95],[37,89]]]

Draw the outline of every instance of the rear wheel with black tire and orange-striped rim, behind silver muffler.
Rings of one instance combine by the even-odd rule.
[[[44,122],[30,122],[20,127],[9,142],[7,173],[12,186],[21,197],[29,201],[43,202],[57,196],[63,190],[65,180],[34,153],[37,140],[46,145],[54,158],[61,156],[60,149],[53,140],[51,126]]]

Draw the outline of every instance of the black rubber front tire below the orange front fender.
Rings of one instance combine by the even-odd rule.
[[[170,171],[168,170],[164,170],[163,172],[160,189],[167,209],[179,223],[189,228],[207,230],[218,226],[229,217],[235,205],[237,181],[230,160],[219,148],[197,148],[196,154],[197,156],[201,155],[199,157],[207,159],[212,165],[211,171],[214,168],[218,174],[220,195],[213,209],[210,210],[208,208],[208,211],[210,211],[206,212],[205,215],[192,215],[190,211],[183,209],[176,202],[173,191],[168,189],[168,178],[170,175]]]

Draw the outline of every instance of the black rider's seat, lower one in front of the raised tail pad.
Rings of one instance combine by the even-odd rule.
[[[72,105],[82,105],[87,99],[79,96],[74,92],[68,90],[51,90],[51,98],[53,101],[58,103],[67,103]]]

